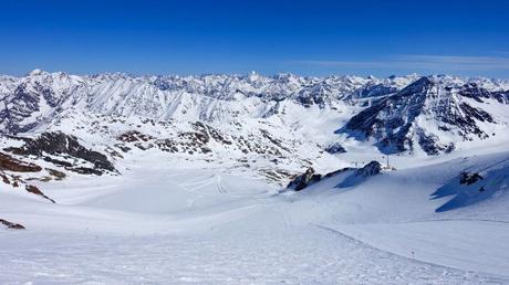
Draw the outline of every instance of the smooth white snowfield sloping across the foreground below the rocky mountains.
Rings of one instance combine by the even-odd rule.
[[[50,204],[0,190],[0,283],[509,283],[505,191],[435,212],[430,194],[507,152],[428,161],[301,192],[222,168],[154,165],[118,177],[50,182]],[[444,159],[442,159],[444,160]]]

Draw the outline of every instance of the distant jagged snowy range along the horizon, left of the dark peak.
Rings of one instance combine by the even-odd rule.
[[[347,98],[385,95],[413,80],[414,76],[315,78],[292,74],[266,77],[254,73],[248,76],[75,76],[37,70],[23,77],[0,78],[3,105],[0,126],[3,133],[27,131],[71,106],[103,115],[136,115],[156,120],[267,117],[281,112],[281,102],[332,107]]]

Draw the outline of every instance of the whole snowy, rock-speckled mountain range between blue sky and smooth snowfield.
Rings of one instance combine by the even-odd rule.
[[[155,151],[245,168],[284,184],[310,167],[325,172],[349,166],[341,157],[349,151],[372,160],[509,141],[509,83],[488,78],[77,76],[35,70],[1,76],[0,97],[3,148],[32,156],[31,162],[35,156],[65,168],[60,170],[87,173]],[[22,142],[25,150],[13,151],[11,145]],[[101,163],[112,167],[94,170],[97,161],[81,148],[104,155]],[[70,166],[44,154],[91,165]]]

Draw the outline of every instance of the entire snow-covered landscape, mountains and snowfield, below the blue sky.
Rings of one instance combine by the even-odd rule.
[[[1,284],[509,284],[509,81],[0,76]]]

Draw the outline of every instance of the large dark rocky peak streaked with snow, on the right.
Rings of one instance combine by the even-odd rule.
[[[373,101],[336,133],[360,140],[374,139],[384,154],[412,152],[420,147],[430,156],[455,149],[454,144],[440,141],[443,133],[457,136],[458,140],[490,137],[492,134],[482,126],[499,123],[488,112],[471,105],[471,99],[491,98],[507,104],[506,93],[489,92],[472,84],[448,84],[453,83],[422,77],[395,94]],[[436,126],[422,122],[434,122]]]

